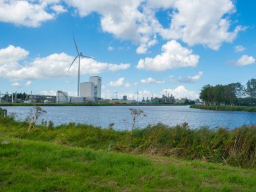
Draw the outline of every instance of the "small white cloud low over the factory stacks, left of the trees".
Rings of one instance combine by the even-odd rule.
[[[162,90],[162,92],[165,92],[165,89]],[[189,98],[189,99],[195,99],[199,98],[199,94],[194,91],[187,90],[184,86],[178,86],[175,89],[167,89],[167,93],[170,95],[172,94],[174,98]]]

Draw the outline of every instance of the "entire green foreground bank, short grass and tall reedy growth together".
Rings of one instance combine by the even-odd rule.
[[[28,123],[1,118],[0,191],[256,191],[256,127],[220,130],[42,122],[28,133]],[[237,156],[220,161],[229,145]]]

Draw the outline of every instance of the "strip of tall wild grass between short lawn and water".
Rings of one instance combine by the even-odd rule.
[[[189,129],[187,123],[169,127],[148,125],[144,129],[117,131],[92,125],[53,122],[37,125],[27,133],[28,123],[13,117],[0,118],[0,134],[30,140],[51,141],[66,146],[112,150],[138,154],[161,154],[189,160],[218,162],[233,166],[256,168],[256,126]]]

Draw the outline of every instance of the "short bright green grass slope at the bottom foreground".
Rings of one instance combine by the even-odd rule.
[[[1,135],[0,191],[255,191],[256,170]]]

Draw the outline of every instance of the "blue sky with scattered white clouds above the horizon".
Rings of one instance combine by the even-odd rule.
[[[256,77],[255,0],[0,0],[0,92],[199,97],[206,84]]]

